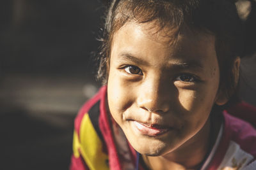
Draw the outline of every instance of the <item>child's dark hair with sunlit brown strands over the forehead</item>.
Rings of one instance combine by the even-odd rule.
[[[216,38],[220,66],[220,88],[236,101],[237,80],[234,61],[244,55],[243,21],[234,0],[114,0],[109,4],[100,51],[98,76],[108,81],[109,53],[113,34],[126,22],[157,21],[159,29],[170,27],[177,38],[184,29],[206,32]]]

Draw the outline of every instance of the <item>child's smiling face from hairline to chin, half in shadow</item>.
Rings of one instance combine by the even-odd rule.
[[[214,36],[187,33],[170,46],[150,27],[128,22],[115,32],[108,104],[138,152],[163,155],[205,138],[220,73]]]

